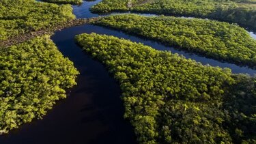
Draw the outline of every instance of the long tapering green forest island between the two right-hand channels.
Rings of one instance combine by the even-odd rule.
[[[237,25],[197,18],[135,14],[102,17],[94,24],[124,30],[221,61],[256,66],[256,40]]]

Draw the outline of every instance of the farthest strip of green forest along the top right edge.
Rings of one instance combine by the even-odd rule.
[[[214,18],[256,29],[255,0],[102,0],[92,12],[147,12]]]

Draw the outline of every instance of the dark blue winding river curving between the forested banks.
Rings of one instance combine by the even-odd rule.
[[[96,17],[91,14],[91,5],[101,0],[74,5],[77,18]],[[148,15],[148,14],[146,14]],[[132,42],[141,42],[158,50],[172,51],[187,58],[195,59],[203,64],[231,68],[234,73],[256,74],[256,70],[223,63],[184,51],[177,51],[158,42],[128,35],[121,31],[106,29],[94,25],[81,25],[57,31],[52,36],[53,42],[63,53],[74,62],[81,73],[77,78],[78,85],[70,90],[68,98],[60,100],[54,109],[48,111],[42,120],[33,120],[9,134],[0,136],[0,143],[136,143],[132,126],[124,120],[124,106],[120,100],[119,86],[101,63],[83,53],[74,42],[74,35],[80,33],[101,33],[126,38]],[[253,38],[256,35],[250,32]]]

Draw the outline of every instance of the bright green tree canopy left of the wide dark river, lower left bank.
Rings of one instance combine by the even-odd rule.
[[[0,48],[0,133],[41,118],[79,74],[49,36]]]

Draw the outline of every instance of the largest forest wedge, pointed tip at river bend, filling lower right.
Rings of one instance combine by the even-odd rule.
[[[76,41],[119,82],[140,143],[256,143],[256,78],[113,36]]]

